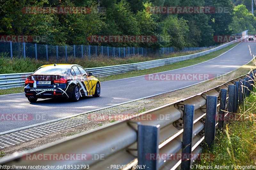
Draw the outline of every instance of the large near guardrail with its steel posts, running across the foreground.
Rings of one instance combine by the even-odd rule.
[[[49,165],[55,166],[55,169],[60,165],[69,169],[71,165],[86,165],[91,170],[120,169],[120,166],[125,166],[124,169],[129,169],[130,166],[145,166],[148,170],[169,170],[177,167],[190,169],[189,166],[195,159],[202,159],[199,155],[202,148],[212,146],[216,130],[224,126],[226,119],[236,112],[238,104],[244,101],[245,96],[250,95],[255,73],[252,70],[213,89],[98,130],[36,150],[15,153],[0,159],[0,165]],[[168,153],[169,156],[163,156]],[[191,153],[195,157],[183,157]],[[83,160],[81,157],[60,159],[60,155],[70,154],[84,154],[88,157]],[[53,160],[49,155],[57,157]]]

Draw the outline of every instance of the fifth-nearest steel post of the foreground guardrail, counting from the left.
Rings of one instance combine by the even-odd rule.
[[[235,117],[236,86],[228,85],[228,120]]]

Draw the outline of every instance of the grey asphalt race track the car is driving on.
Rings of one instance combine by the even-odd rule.
[[[0,96],[0,114],[11,114],[13,119],[7,121],[0,117],[0,132],[186,87],[204,81],[196,80],[196,77],[202,78],[196,74],[204,74],[204,76],[212,78],[212,76],[228,73],[248,63],[255,53],[256,43],[242,42],[227,53],[194,66],[167,71],[151,77],[139,76],[101,82],[100,97],[88,96],[80,98],[78,102],[63,99],[38,99],[36,103],[30,103],[24,94]],[[175,74],[177,79],[179,79],[177,75],[185,75],[188,79],[193,79],[194,75],[194,79],[170,81],[172,74]],[[149,78],[150,80],[148,80]],[[164,78],[168,80],[164,81]],[[17,114],[33,115],[33,119],[31,116],[26,118]],[[28,120],[23,121],[22,119]]]

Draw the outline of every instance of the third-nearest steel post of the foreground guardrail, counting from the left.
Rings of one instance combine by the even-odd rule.
[[[214,144],[214,138],[215,138],[217,98],[218,98],[217,96],[206,97],[204,142],[205,142],[205,147],[209,149]]]

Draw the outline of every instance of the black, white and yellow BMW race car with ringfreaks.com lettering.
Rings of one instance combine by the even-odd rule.
[[[28,76],[24,91],[30,102],[57,97],[76,102],[82,96],[99,97],[100,81],[77,64],[49,64]]]

